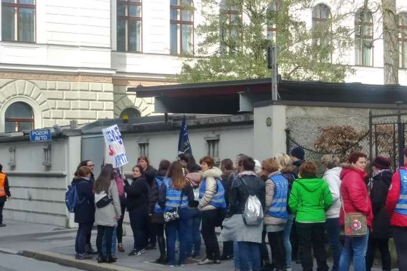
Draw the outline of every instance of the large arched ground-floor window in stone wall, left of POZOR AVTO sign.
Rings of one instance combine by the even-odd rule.
[[[34,114],[24,102],[12,103],[5,114],[5,132],[18,132],[34,128]]]

